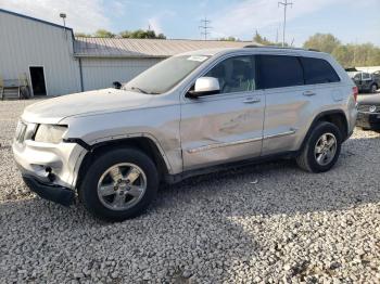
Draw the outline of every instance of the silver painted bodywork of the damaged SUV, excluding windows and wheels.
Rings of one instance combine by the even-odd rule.
[[[169,175],[250,157],[297,151],[321,112],[342,111],[352,132],[356,106],[354,83],[328,54],[281,49],[218,49],[188,55],[210,55],[170,91],[160,94],[104,89],[65,95],[28,106],[22,120],[67,125],[63,139],[87,144],[144,137],[159,149]],[[327,60],[340,82],[186,98],[187,91],[213,66],[238,55],[282,54]],[[313,93],[313,95],[305,95]],[[315,94],[314,94],[315,93]],[[51,167],[56,184],[75,189],[87,150],[76,143],[37,143],[31,135],[13,144],[21,167],[40,179]],[[45,176],[43,176],[43,175]]]

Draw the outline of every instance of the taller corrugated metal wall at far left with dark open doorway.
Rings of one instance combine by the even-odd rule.
[[[17,79],[43,66],[49,95],[80,91],[78,60],[69,30],[0,11],[0,76]]]

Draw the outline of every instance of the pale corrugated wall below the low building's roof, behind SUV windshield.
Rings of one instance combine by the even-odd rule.
[[[84,89],[112,87],[112,82],[127,82],[162,59],[81,59]]]

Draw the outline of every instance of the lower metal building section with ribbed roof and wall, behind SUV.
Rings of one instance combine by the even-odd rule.
[[[237,48],[246,42],[176,39],[76,38],[85,90],[126,82],[163,59],[199,49]]]

